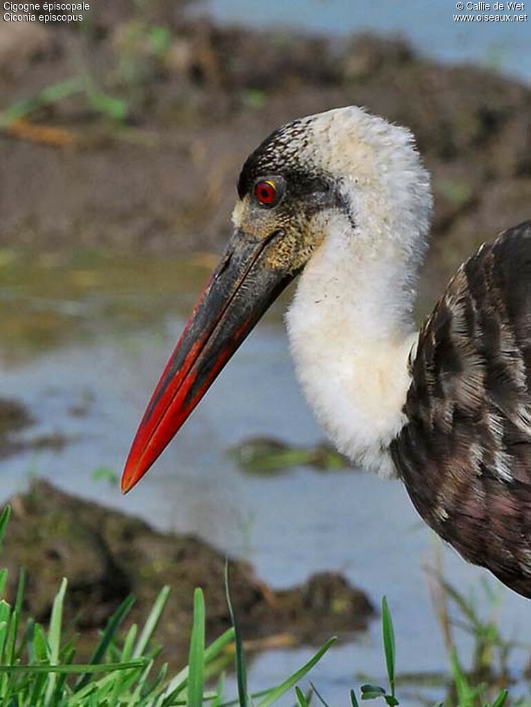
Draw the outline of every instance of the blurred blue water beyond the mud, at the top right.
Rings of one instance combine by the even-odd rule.
[[[466,4],[466,3],[465,3]],[[490,2],[494,5],[494,0]],[[427,56],[443,62],[490,66],[509,76],[531,81],[531,5],[527,22],[455,22],[453,15],[510,14],[463,11],[455,0],[206,0],[218,22],[238,22],[280,33],[302,28],[332,35],[369,30],[379,35],[401,35]]]

